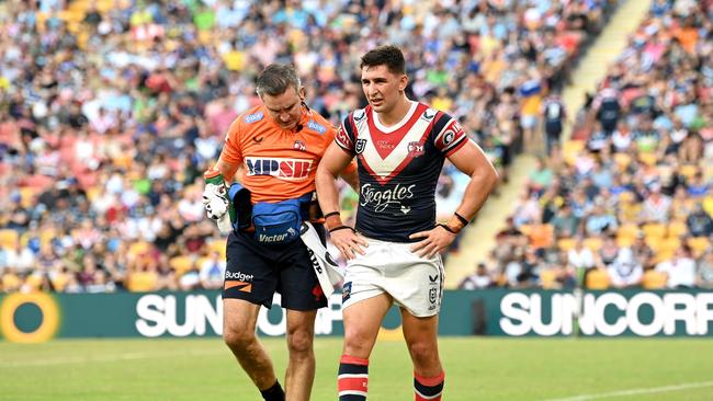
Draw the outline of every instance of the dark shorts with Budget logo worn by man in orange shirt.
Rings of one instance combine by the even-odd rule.
[[[324,242],[324,227],[315,225],[315,229]],[[272,297],[278,291],[286,309],[315,310],[327,306],[302,240],[265,245],[250,233],[234,231],[228,237],[226,251],[223,298],[245,299],[271,308]]]

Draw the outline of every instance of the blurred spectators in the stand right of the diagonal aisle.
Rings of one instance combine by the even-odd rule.
[[[463,288],[713,288],[713,1],[655,0]]]

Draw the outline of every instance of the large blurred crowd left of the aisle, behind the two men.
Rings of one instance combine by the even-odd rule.
[[[293,62],[338,123],[363,105],[358,55],[401,46],[412,98],[457,116],[507,177],[613,5],[0,2],[0,290],[219,287],[225,239],[204,218],[202,172],[273,61]],[[464,184],[449,168],[440,181],[450,215]],[[343,199],[353,210],[355,194]]]

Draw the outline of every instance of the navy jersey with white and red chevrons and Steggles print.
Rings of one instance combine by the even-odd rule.
[[[411,102],[398,124],[385,127],[371,106],[350,113],[335,137],[356,156],[356,231],[383,241],[411,242],[409,234],[435,224],[435,184],[445,158],[467,142],[457,121]]]

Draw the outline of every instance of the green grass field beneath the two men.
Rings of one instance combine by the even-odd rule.
[[[284,340],[264,343],[282,376]],[[313,400],[337,399],[340,350],[341,339],[317,339]],[[441,339],[441,356],[448,401],[713,400],[705,339],[450,337]],[[411,381],[406,346],[378,342],[370,400],[412,400]],[[218,339],[0,342],[0,400],[259,399]]]

